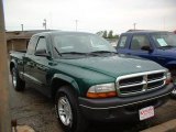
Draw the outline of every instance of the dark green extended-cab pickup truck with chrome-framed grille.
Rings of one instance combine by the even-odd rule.
[[[26,52],[12,52],[10,58],[14,89],[24,90],[28,84],[53,98],[66,132],[84,132],[90,120],[154,117],[174,87],[166,68],[117,54],[90,33],[38,33]]]

